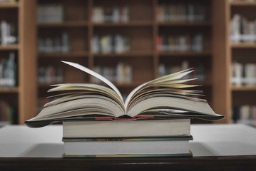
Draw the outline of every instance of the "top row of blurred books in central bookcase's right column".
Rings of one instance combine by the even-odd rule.
[[[196,3],[163,4],[157,12],[158,21],[205,21],[205,6]]]

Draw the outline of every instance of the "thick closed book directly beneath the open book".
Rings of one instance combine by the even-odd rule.
[[[64,138],[190,135],[190,119],[63,122]]]

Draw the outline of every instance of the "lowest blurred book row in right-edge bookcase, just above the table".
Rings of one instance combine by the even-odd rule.
[[[232,108],[232,121],[233,123],[245,123],[249,125],[256,125],[256,106],[234,106]]]

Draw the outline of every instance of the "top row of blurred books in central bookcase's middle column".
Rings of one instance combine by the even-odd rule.
[[[112,22],[122,23],[129,21],[128,6],[94,6],[92,21],[94,23]]]

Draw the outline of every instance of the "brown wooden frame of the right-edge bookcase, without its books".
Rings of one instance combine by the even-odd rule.
[[[220,101],[215,100],[214,106],[217,113],[227,113],[226,123],[232,120],[232,107],[240,105],[256,105],[256,86],[233,86],[230,83],[232,77],[232,62],[255,63],[254,54],[256,43],[233,43],[230,39],[230,20],[235,14],[240,14],[250,21],[255,21],[255,2],[246,1],[222,1],[217,0],[214,8],[219,6],[219,11],[214,19],[215,40],[214,51],[218,52],[214,58],[214,92],[219,95]],[[222,103],[222,104],[221,104]]]

